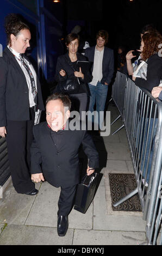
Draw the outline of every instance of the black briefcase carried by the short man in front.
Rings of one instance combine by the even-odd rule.
[[[77,187],[74,210],[85,214],[95,197],[102,176],[103,174],[101,173],[92,173],[89,176],[84,176],[82,182]]]

